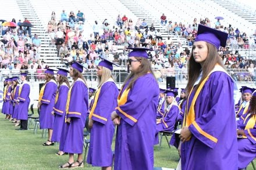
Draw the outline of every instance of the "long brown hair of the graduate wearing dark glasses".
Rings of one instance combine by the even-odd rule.
[[[129,85],[127,86],[127,89],[133,88],[134,82],[141,76],[148,74],[148,73],[153,73],[152,68],[151,68],[151,63],[148,59],[145,59],[144,57],[135,57],[136,60],[140,60],[141,65],[138,67],[138,70],[131,72],[127,78],[125,79],[125,82],[123,82],[123,86],[126,84],[129,79],[131,81],[129,82]],[[155,75],[154,75],[155,78]],[[156,78],[155,78],[156,79]],[[123,88],[122,86],[122,88]]]

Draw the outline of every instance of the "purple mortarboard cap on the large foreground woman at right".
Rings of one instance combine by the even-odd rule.
[[[214,45],[217,49],[220,46],[225,47],[227,42],[227,33],[206,26],[198,25],[196,41],[205,41]]]

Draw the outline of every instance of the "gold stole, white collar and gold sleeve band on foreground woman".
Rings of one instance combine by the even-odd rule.
[[[189,106],[189,97],[191,95],[191,92],[193,92],[194,87],[191,89],[190,93],[189,93],[189,97],[187,97],[187,104],[186,104],[186,108],[185,108],[185,115],[184,115],[184,119],[183,119],[183,127],[187,126],[189,127],[191,124],[193,124],[195,126],[195,129],[197,129],[198,132],[201,133],[201,135],[205,136],[206,138],[212,140],[213,142],[217,143],[218,139],[216,139],[214,136],[209,135],[207,132],[203,131],[200,126],[197,124],[197,122],[195,122],[195,111],[194,111],[194,106],[195,106],[195,102],[197,100],[198,95],[200,94],[202,88],[205,85],[205,82],[209,79],[209,76],[214,73],[215,71],[222,71],[224,73],[227,74],[226,70],[224,68],[222,68],[221,66],[219,66],[218,64],[216,64],[216,66],[214,67],[214,69],[211,71],[211,73],[209,73],[207,75],[207,77],[201,82],[201,84],[198,86],[197,91],[195,92],[195,95],[192,99],[189,111],[187,110],[187,107]],[[229,75],[229,74],[227,74]],[[190,140],[190,139],[189,139]]]

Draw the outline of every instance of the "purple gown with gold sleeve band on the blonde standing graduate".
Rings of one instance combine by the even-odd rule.
[[[99,92],[98,102],[91,117],[94,120],[90,134],[87,162],[96,167],[111,167],[113,153],[111,144],[115,126],[111,113],[118,106],[118,87],[114,82],[105,82]]]

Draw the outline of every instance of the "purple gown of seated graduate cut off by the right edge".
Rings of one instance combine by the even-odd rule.
[[[248,120],[255,120],[256,115],[243,115],[240,118],[240,121],[237,122],[237,128],[243,129],[246,128]],[[246,120],[245,120],[246,119]],[[245,121],[244,121],[245,120]],[[244,169],[256,158],[256,122],[254,121],[254,127],[251,129],[244,130],[247,138],[239,138],[238,142],[238,168]]]

